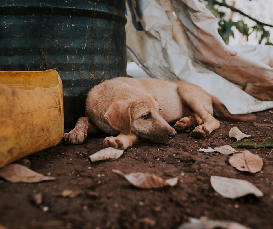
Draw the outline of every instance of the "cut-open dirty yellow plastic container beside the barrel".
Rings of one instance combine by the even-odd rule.
[[[0,71],[0,168],[57,145],[63,133],[57,71]]]

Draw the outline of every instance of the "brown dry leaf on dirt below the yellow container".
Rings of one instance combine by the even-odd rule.
[[[44,180],[56,180],[52,176],[44,176],[41,173],[36,173],[28,167],[21,164],[8,164],[0,170],[0,177],[13,183],[37,183]]]

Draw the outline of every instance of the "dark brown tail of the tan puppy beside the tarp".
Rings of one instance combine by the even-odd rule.
[[[241,122],[248,122],[254,119],[253,114],[231,114],[227,110],[226,106],[221,103],[219,99],[214,96],[211,96],[212,105],[215,110],[222,116],[223,119],[229,121],[241,121]]]

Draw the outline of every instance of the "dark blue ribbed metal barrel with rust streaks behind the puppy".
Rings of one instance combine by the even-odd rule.
[[[127,75],[124,11],[125,0],[0,1],[0,71],[58,71],[73,128],[91,87]]]

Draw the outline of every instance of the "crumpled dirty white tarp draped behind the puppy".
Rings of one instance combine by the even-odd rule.
[[[232,114],[273,108],[273,46],[226,45],[197,0],[127,0],[125,14],[127,53],[150,77],[199,85]]]

